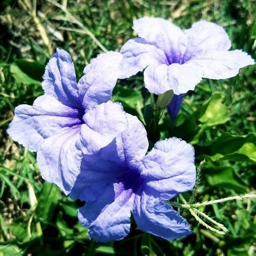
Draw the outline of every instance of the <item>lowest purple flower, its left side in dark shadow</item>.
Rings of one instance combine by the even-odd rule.
[[[195,183],[193,147],[177,138],[158,141],[148,153],[146,130],[127,114],[128,128],[96,154],[83,155],[71,197],[86,201],[79,221],[97,241],[120,240],[138,227],[167,240],[191,233],[187,221],[164,200]],[[146,154],[146,155],[145,155]]]

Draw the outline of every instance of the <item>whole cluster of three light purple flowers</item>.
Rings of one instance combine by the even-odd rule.
[[[194,149],[169,138],[147,153],[144,125],[110,100],[117,78],[146,68],[151,93],[174,91],[168,112],[175,119],[181,94],[202,77],[232,77],[254,63],[240,50],[228,51],[229,37],[214,23],[200,21],[182,31],[161,18],[142,18],[134,29],[139,37],[120,53],[98,55],[78,82],[71,57],[57,49],[43,76],[45,95],[16,107],[8,129],[13,140],[37,151],[42,178],[86,201],[78,219],[97,241],[124,238],[131,215],[141,230],[167,240],[191,232],[165,200],[193,188]]]

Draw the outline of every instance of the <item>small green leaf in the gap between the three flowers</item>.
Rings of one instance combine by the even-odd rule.
[[[130,107],[136,109],[138,103],[143,102],[143,98],[139,91],[135,89],[125,88],[123,86],[115,86],[113,90],[112,99],[121,102],[123,107]]]

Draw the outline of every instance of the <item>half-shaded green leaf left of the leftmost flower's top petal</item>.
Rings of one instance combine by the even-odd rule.
[[[36,61],[16,60],[10,71],[17,82],[40,85],[45,66]]]

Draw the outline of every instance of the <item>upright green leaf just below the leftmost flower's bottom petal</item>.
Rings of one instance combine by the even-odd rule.
[[[60,198],[60,190],[55,185],[45,182],[35,209],[36,216],[50,221]]]

